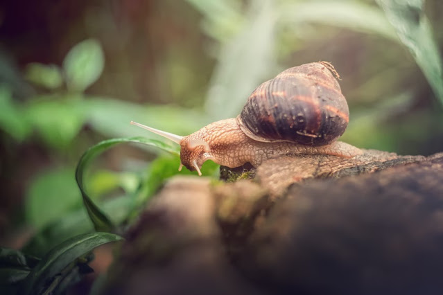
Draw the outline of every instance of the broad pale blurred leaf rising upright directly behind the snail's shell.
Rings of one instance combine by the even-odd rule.
[[[250,1],[249,21],[221,49],[205,109],[212,119],[232,118],[246,98],[275,70],[276,14],[272,1]],[[257,37],[260,36],[260,37]]]

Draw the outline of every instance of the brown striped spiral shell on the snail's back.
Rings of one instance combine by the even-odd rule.
[[[331,143],[349,122],[347,102],[335,76],[327,62],[287,69],[252,92],[237,123],[257,141]]]

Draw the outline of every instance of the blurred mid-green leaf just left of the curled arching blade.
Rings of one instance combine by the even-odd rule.
[[[37,231],[81,204],[73,168],[43,172],[26,192],[26,220]]]

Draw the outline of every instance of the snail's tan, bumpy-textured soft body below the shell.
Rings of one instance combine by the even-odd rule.
[[[207,142],[210,150],[205,152],[202,145],[189,149],[188,144],[192,140]],[[242,166],[247,162],[257,168],[266,159],[301,154],[331,154],[351,158],[362,154],[362,151],[341,141],[318,146],[288,141],[255,141],[240,129],[236,118],[229,118],[211,123],[197,132],[185,136],[181,143],[180,159],[186,168],[195,171],[194,161],[199,168],[209,159],[229,168]]]

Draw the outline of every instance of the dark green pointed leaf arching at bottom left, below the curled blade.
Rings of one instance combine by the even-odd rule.
[[[28,275],[24,282],[24,294],[40,294],[44,286],[71,262],[102,244],[119,240],[122,238],[112,233],[86,233],[62,242],[51,249]]]

